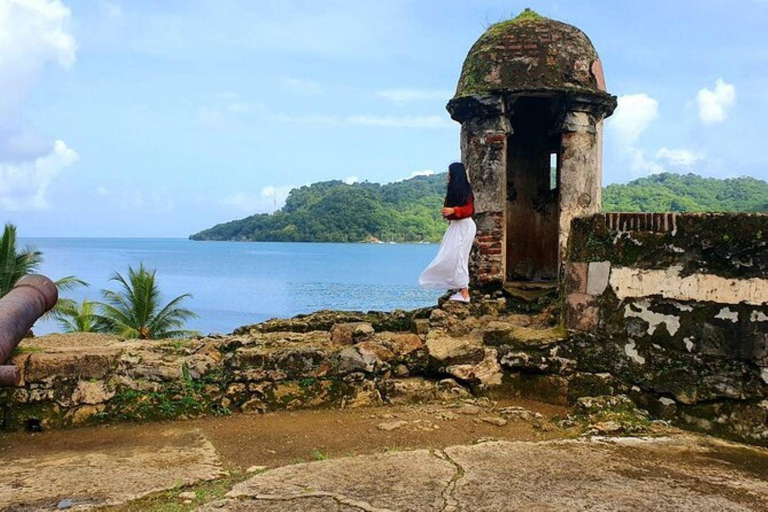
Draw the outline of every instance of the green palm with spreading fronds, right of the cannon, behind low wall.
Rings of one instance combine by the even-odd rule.
[[[192,311],[179,308],[186,298],[179,295],[165,306],[160,306],[160,289],[155,282],[155,270],[147,270],[140,264],[138,270],[128,267],[128,279],[115,272],[111,281],[120,283],[121,290],[103,290],[105,302],[99,303],[99,320],[107,329],[126,338],[160,339],[183,338],[199,333],[183,329],[190,318],[197,318]]]

